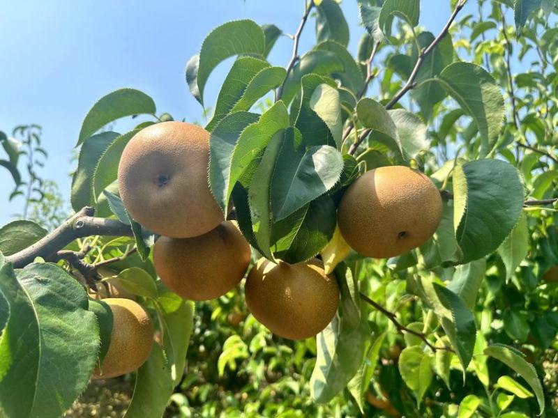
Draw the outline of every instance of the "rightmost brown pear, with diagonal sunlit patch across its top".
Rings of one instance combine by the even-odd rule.
[[[435,233],[442,197],[432,181],[409,167],[379,167],[358,178],[341,199],[338,224],[363,256],[389,258],[420,247]]]

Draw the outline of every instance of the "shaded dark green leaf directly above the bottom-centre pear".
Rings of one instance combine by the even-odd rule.
[[[307,261],[326,247],[336,224],[335,203],[319,197],[271,226],[273,254],[291,264]]]

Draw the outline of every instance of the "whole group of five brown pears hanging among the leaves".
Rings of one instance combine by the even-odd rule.
[[[210,300],[239,285],[251,250],[225,215],[207,181],[209,132],[183,122],[164,122],[138,132],[118,169],[126,210],[160,235],[153,263],[163,284],[187,300]],[[352,249],[386,258],[423,245],[442,217],[437,187],[408,167],[381,167],[357,179],[340,201],[338,226]],[[348,250],[347,250],[348,251]],[[108,299],[113,339],[95,378],[137,369],[149,357],[153,326],[144,309],[112,284]],[[297,264],[260,258],[245,285],[246,304],[271,332],[287,339],[315,336],[335,316],[340,291],[335,277],[314,258]],[[129,356],[134,347],[135,356]],[[133,358],[132,358],[133,357]]]

